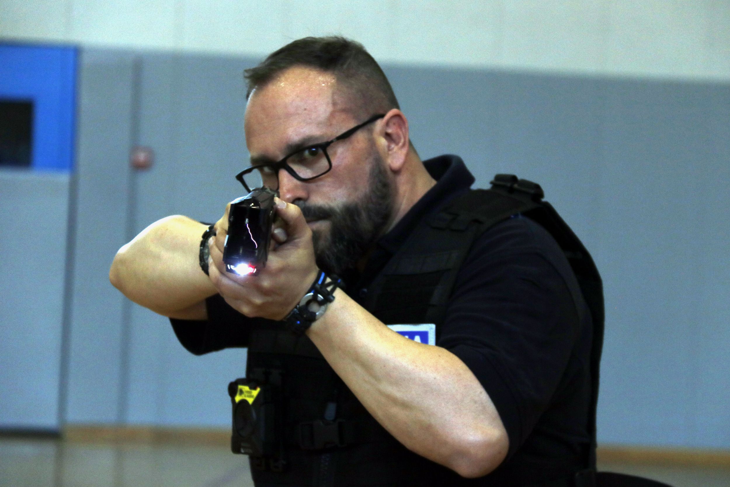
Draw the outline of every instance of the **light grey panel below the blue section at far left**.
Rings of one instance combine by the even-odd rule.
[[[0,428],[58,429],[69,176],[0,170]]]

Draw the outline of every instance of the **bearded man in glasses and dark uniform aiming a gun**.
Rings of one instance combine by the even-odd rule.
[[[591,318],[550,234],[520,215],[474,234],[447,290],[447,266],[399,274],[413,236],[469,193],[461,160],[420,161],[388,80],[347,39],[299,39],[247,80],[244,178],[280,194],[266,267],[226,272],[226,209],[207,262],[206,226],[170,217],[120,249],[110,279],[193,353],[249,347],[283,424],[285,464],[252,464],[257,485],[537,485],[587,467]],[[335,276],[323,314],[301,310]],[[440,315],[421,309],[434,289]],[[435,345],[386,326],[429,316]]]

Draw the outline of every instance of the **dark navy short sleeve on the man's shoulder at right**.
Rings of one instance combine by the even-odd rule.
[[[458,274],[437,345],[464,361],[510,438],[529,436],[558,388],[580,334],[566,284],[569,264],[553,237],[511,218],[477,239]]]

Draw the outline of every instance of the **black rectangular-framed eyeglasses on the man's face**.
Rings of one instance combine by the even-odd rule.
[[[327,147],[338,140],[347,139],[359,129],[383,117],[385,117],[384,113],[373,115],[363,123],[342,132],[334,139],[295,150],[281,161],[247,167],[236,175],[236,179],[249,192],[253,188],[260,188],[261,186],[276,191],[279,189],[280,169],[286,169],[286,172],[300,181],[311,181],[315,177],[326,175],[332,169],[332,161],[327,153]]]

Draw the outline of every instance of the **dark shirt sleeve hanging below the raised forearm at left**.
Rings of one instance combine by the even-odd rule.
[[[207,320],[170,318],[177,340],[195,355],[216,352],[223,348],[247,347],[250,336],[249,318],[234,310],[215,294],[205,300]]]

